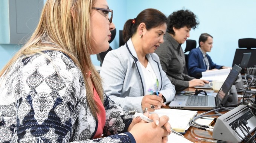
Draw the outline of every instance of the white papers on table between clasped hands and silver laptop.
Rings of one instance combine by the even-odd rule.
[[[189,122],[195,117],[197,111],[191,110],[178,110],[178,109],[160,109],[155,110],[154,112],[150,112],[150,114],[158,114],[160,117],[166,115],[169,117],[169,123],[172,126],[172,129],[176,132],[185,133],[189,128]],[[140,115],[142,113],[135,113],[136,115]]]

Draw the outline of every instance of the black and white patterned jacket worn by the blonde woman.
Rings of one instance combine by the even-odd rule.
[[[126,132],[133,117],[105,94],[103,134],[112,135],[92,139],[98,122],[81,70],[62,52],[43,53],[21,56],[0,78],[0,143],[135,142]]]

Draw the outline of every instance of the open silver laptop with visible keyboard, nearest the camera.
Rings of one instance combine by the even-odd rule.
[[[242,68],[239,67],[238,65],[233,66],[232,70],[227,76],[227,79],[224,81],[221,89],[218,91],[216,97],[176,95],[174,96],[174,99],[169,104],[169,107],[175,108],[175,109],[187,109],[187,110],[212,110],[225,105],[230,95],[229,91],[241,70]],[[202,99],[200,99],[200,101],[196,101],[194,98],[195,99],[202,98]],[[202,103],[203,105],[200,105],[200,103]],[[191,104],[194,104],[194,105],[191,105]]]

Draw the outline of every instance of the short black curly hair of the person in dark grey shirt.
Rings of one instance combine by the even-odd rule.
[[[166,31],[175,35],[173,27],[180,29],[184,26],[187,26],[188,28],[195,29],[197,28],[198,24],[199,21],[193,12],[189,10],[179,10],[169,15]]]

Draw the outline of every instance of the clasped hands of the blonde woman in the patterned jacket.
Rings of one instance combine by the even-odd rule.
[[[144,113],[145,116],[149,112]],[[154,122],[146,123],[141,120],[140,123],[136,123],[131,129],[130,133],[133,135],[137,143],[167,143],[168,135],[171,134],[171,125],[168,123],[169,117],[158,117],[157,114],[151,114],[149,116]],[[157,125],[158,124],[158,125]],[[165,126],[167,129],[161,128]]]

